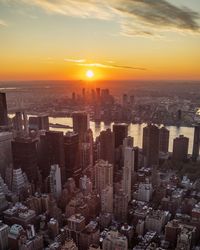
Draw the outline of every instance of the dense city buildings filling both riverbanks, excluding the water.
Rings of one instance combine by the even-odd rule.
[[[161,105],[124,94],[119,104],[109,89],[84,88],[54,110],[44,102],[16,110],[10,99],[10,115],[1,92],[0,249],[200,249],[198,104],[158,98]],[[49,123],[62,105],[71,129]],[[114,124],[94,139],[89,119]],[[130,122],[147,122],[142,148]],[[160,124],[194,126],[192,154],[184,135],[169,152]]]

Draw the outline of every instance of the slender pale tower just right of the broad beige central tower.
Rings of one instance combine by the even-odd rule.
[[[134,173],[134,148],[125,147],[124,166],[123,166],[122,188],[128,194],[128,200],[131,200],[132,177]]]

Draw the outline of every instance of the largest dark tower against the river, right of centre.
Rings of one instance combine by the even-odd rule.
[[[159,128],[149,124],[143,128],[143,154],[146,156],[148,166],[158,165],[159,163]]]

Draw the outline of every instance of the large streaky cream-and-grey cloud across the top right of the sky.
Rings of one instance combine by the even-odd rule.
[[[1,1],[1,0],[0,0]],[[166,31],[200,32],[199,13],[167,0],[21,0],[48,13],[116,20],[121,34],[160,36]]]

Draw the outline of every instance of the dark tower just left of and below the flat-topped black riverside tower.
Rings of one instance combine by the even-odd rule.
[[[100,159],[114,164],[115,136],[111,129],[101,131],[99,135]]]

